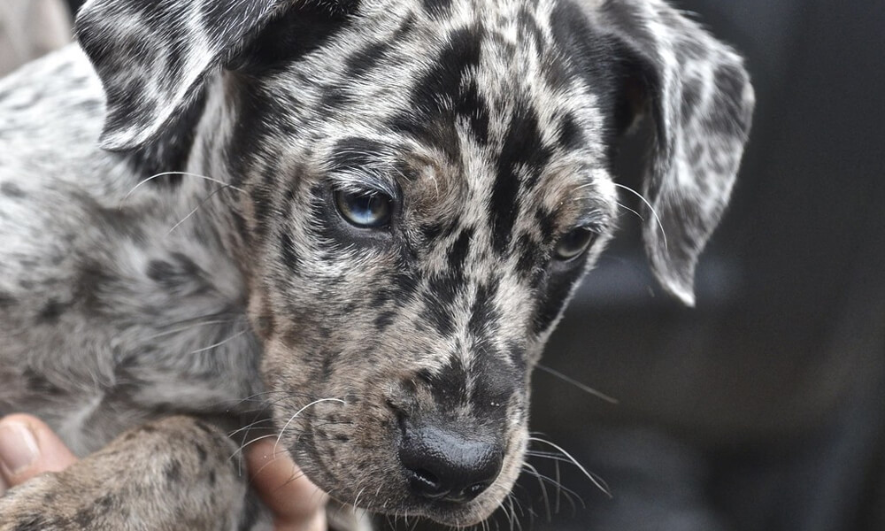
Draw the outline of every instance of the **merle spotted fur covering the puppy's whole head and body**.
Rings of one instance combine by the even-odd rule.
[[[0,413],[89,458],[0,498],[3,531],[257,526],[250,423],[342,503],[486,518],[620,136],[653,124],[646,248],[692,304],[753,106],[661,0],[92,0],[77,35],[0,81]],[[420,496],[427,433],[489,481]]]

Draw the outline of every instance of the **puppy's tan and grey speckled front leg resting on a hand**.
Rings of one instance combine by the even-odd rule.
[[[237,529],[248,485],[235,451],[201,420],[151,422],[0,497],[0,531]]]

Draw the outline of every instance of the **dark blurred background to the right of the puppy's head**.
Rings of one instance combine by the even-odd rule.
[[[543,360],[620,403],[538,371],[532,423],[612,497],[535,443],[550,452],[530,461],[546,479],[524,473],[518,521],[499,512],[497,525],[881,531],[885,2],[675,4],[742,51],[753,76],[732,206],[695,309],[660,292],[624,217]]]

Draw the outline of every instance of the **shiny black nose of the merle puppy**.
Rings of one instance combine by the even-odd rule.
[[[497,443],[435,426],[403,424],[399,458],[416,496],[469,502],[501,472]]]

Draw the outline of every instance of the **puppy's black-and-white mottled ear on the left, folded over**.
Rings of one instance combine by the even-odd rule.
[[[307,0],[298,3],[311,4]],[[314,0],[335,11],[344,0]],[[132,150],[156,137],[295,0],[90,0],[76,33],[104,85],[101,145]]]

